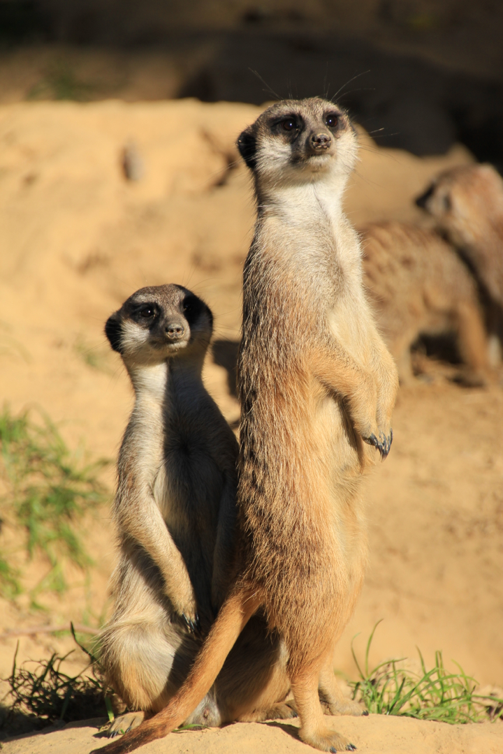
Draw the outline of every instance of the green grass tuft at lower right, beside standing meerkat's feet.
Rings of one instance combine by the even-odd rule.
[[[449,673],[444,667],[441,651],[435,653],[435,664],[431,670],[427,670],[419,649],[419,672],[403,664],[405,657],[383,662],[369,670],[370,646],[378,625],[374,626],[367,642],[363,670],[351,645],[360,680],[351,681],[349,685],[353,690],[353,699],[362,700],[370,713],[415,717],[452,725],[503,719],[503,699],[477,694],[477,681],[467,676],[457,663],[459,673]]]

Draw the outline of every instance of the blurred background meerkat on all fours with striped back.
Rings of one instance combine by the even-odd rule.
[[[375,222],[361,231],[363,282],[400,382],[413,379],[410,347],[421,335],[455,333],[469,385],[489,373],[477,286],[465,263],[434,231]]]

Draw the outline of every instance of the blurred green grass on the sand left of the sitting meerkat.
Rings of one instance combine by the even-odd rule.
[[[23,529],[26,555],[42,554],[50,565],[33,597],[42,590],[66,589],[65,559],[84,570],[90,565],[77,524],[106,500],[98,477],[108,463],[86,464],[81,454],[69,451],[51,420],[40,418],[35,423],[29,412],[14,416],[7,407],[0,414],[0,477],[7,490],[0,497],[3,516]],[[20,590],[20,573],[4,553],[0,592],[11,597]]]

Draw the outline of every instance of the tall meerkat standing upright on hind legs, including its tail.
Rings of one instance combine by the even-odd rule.
[[[301,739],[326,752],[354,749],[327,727],[318,688],[331,713],[362,712],[339,691],[333,653],[367,562],[362,471],[389,452],[398,380],[342,211],[357,136],[333,103],[287,100],[238,146],[255,178],[257,219],[238,360],[237,576],[182,688],[107,754],[186,719],[261,608],[287,649]]]

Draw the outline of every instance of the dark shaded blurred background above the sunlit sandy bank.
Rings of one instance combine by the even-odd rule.
[[[337,96],[382,146],[501,169],[502,36],[499,0],[0,0],[0,102]]]

